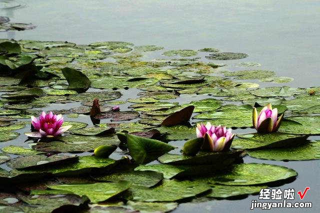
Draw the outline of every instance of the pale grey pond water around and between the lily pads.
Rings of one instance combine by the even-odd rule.
[[[261,64],[259,69],[294,78],[294,81],[285,84],[287,86],[319,86],[318,0],[14,2],[18,2],[20,6],[0,9],[0,16],[8,16],[14,22],[30,22],[37,27],[32,30],[0,32],[0,38],[62,40],[77,44],[116,40],[132,42],[135,45],[163,46],[163,51],[215,47],[223,52],[247,53],[249,56],[241,62],[257,62]],[[147,54],[145,59],[154,58],[152,54]],[[226,70],[243,69],[235,66],[239,63],[238,60],[222,62],[228,65],[224,67]],[[259,84],[260,87],[270,86],[268,83]],[[134,90],[122,92],[123,100],[136,96]],[[188,103],[190,98],[196,97],[182,96],[178,101]],[[65,108],[62,105],[54,107]],[[245,131],[248,130],[238,130]],[[319,137],[312,139],[318,140]],[[8,145],[5,142],[3,146],[5,144]],[[293,188],[295,192],[303,192],[305,187],[310,187],[303,202],[312,202],[312,208],[303,209],[303,212],[320,212],[320,199],[317,194],[320,189],[318,161],[278,162],[245,157],[244,162],[269,163],[294,169],[298,173],[295,181],[274,188]],[[260,212],[259,209],[249,210],[251,200],[258,200],[258,195],[235,201],[184,203],[174,212]],[[294,201],[300,202],[297,194]],[[271,209],[268,212],[287,211]],[[289,212],[299,213],[301,209],[291,209]]]

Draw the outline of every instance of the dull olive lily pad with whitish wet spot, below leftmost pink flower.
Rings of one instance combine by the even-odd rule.
[[[38,167],[49,167],[53,164],[64,164],[66,162],[76,161],[77,157],[67,155],[29,155],[17,157],[10,160],[7,164],[12,169],[34,169]]]

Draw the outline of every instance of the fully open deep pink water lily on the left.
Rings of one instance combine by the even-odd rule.
[[[31,124],[37,132],[24,133],[26,136],[35,138],[52,138],[61,135],[72,127],[72,125],[63,126],[62,115],[55,115],[52,112],[46,114],[42,112],[39,119],[31,116]]]

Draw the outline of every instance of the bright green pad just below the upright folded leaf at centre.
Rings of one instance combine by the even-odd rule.
[[[180,167],[176,167],[169,164],[151,164],[151,165],[139,165],[134,168],[134,171],[154,171],[163,174],[163,178],[171,179],[178,173],[184,171]]]

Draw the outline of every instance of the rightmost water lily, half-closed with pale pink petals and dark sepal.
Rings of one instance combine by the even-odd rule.
[[[278,110],[276,108],[272,109],[271,104],[267,104],[265,107],[263,107],[259,115],[256,111],[256,108],[253,107],[253,127],[259,133],[276,132],[282,121],[283,113],[279,116],[279,118],[277,118],[277,116]]]

